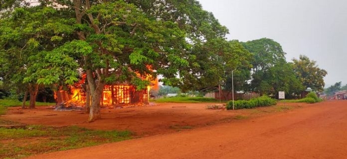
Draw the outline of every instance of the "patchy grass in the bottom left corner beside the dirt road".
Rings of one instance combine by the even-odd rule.
[[[27,126],[0,128],[0,159],[20,159],[31,155],[90,147],[132,139],[129,131],[89,130],[76,126]]]

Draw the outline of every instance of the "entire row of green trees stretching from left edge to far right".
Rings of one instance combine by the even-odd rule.
[[[327,71],[307,56],[287,62],[272,39],[227,40],[196,0],[6,0],[0,17],[2,85],[28,92],[34,108],[39,87],[69,89],[84,73],[90,122],[104,85],[145,89],[153,79],[138,74],[183,92],[230,90],[232,70],[236,91],[297,95],[325,85]]]

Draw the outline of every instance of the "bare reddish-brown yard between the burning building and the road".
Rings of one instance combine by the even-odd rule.
[[[160,103],[135,108],[102,109],[101,120],[87,123],[88,114],[83,111],[53,111],[49,107],[37,107],[34,110],[9,108],[0,119],[27,125],[45,125],[54,127],[79,126],[95,130],[129,130],[137,136],[167,134],[190,128],[205,127],[239,117],[248,118],[264,113],[280,112],[282,108],[296,108],[307,104],[291,103],[283,107],[263,107],[253,110],[208,110],[213,103]],[[285,109],[284,109],[285,110]],[[18,114],[21,112],[21,114]]]

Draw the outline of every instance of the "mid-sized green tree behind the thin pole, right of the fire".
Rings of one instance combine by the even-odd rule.
[[[245,74],[245,77],[235,78],[237,84],[243,85],[248,80],[252,56],[237,40],[217,39],[206,42],[195,46],[192,53],[195,58],[190,59],[189,69],[183,76],[183,85],[180,87],[183,91],[208,90],[218,85],[228,90],[231,88],[228,82],[231,79],[231,71],[236,68],[234,73],[237,77]]]

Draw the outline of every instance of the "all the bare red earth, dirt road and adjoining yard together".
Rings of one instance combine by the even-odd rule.
[[[347,159],[347,101],[286,105],[224,111],[206,110],[206,104],[161,104],[103,110],[103,119],[90,124],[83,123],[86,114],[44,108],[12,110],[1,118],[149,136],[29,159]],[[240,115],[247,118],[235,118]],[[173,125],[192,129],[177,131]]]

